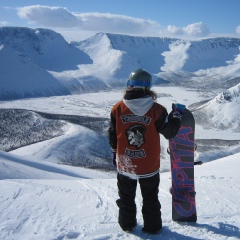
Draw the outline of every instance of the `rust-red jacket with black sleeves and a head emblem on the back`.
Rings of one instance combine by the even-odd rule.
[[[158,171],[159,133],[170,139],[178,132],[180,121],[171,117],[168,119],[167,110],[151,101],[151,107],[144,115],[134,114],[124,100],[112,108],[109,143],[117,151],[117,168],[120,173],[148,176]]]

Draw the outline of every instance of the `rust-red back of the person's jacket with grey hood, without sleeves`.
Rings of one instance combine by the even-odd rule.
[[[128,95],[133,91],[142,94],[141,89],[129,89]],[[135,97],[134,95],[135,93],[132,97]],[[146,105],[148,106],[145,108]],[[136,115],[139,106],[140,110],[145,108],[146,112]],[[155,103],[149,95],[144,98],[123,99],[113,107],[112,114],[118,119],[116,132],[119,172],[125,175],[132,174],[134,177],[134,174],[144,175],[159,170],[160,137],[155,122],[163,112],[164,108]]]

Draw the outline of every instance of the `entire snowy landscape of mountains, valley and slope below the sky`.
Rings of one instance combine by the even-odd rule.
[[[161,137],[163,231],[117,223],[107,128],[129,73],[153,76],[168,111],[196,120],[198,221],[171,220],[168,142]],[[240,39],[98,33],[67,43],[49,29],[0,28],[0,239],[240,239]]]

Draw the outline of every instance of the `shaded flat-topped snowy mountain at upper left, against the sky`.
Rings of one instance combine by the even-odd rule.
[[[50,29],[21,27],[0,28],[0,44],[12,48],[48,71],[78,69],[91,59],[68,44],[62,35]]]

